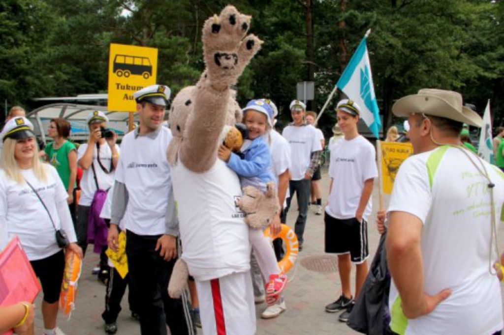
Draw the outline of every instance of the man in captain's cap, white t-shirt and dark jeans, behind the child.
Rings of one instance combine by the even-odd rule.
[[[301,101],[292,101],[290,112],[293,122],[282,132],[282,136],[289,142],[291,149],[290,197],[287,199],[284,216],[287,217],[290,202],[296,193],[299,215],[294,230],[299,241],[299,250],[302,250],[304,243],[303,233],[310,198],[310,181],[317,169],[322,152],[320,140],[317,139],[317,131],[304,121],[305,110],[306,106]]]

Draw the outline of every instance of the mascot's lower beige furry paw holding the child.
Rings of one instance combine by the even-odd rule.
[[[266,193],[252,186],[243,188],[238,207],[245,213],[245,223],[252,228],[267,227],[280,209],[277,194],[270,192],[270,188],[271,186],[268,185]]]

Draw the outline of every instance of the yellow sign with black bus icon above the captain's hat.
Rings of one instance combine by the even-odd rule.
[[[110,44],[108,62],[109,111],[135,112],[133,93],[156,83],[156,48]]]

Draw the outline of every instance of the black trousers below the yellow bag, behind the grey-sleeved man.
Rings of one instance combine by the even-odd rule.
[[[126,291],[126,287],[130,282],[130,275],[122,278],[115,268],[110,268],[108,281],[107,281],[107,292],[105,294],[105,310],[101,314],[101,317],[105,323],[112,323],[117,320],[117,316],[121,311],[121,300]],[[135,290],[132,289],[130,285],[130,290],[128,291],[128,302],[130,304],[130,310],[132,312],[138,313],[140,311],[139,298],[135,295]]]

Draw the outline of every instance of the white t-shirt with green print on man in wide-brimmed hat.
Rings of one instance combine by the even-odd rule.
[[[482,160],[467,151],[482,169]],[[483,162],[493,189],[495,222],[504,203],[504,175]],[[392,283],[391,327],[399,334],[492,334],[502,329],[498,279],[489,273],[491,206],[487,180],[459,149],[441,146],[406,159],[397,174],[388,211],[423,223],[424,292],[452,289],[434,311],[408,320]],[[408,224],[405,222],[404,224]],[[492,253],[492,260],[497,255]]]

